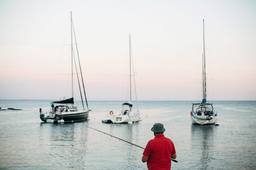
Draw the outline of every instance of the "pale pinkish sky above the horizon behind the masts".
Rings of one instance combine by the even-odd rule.
[[[203,19],[207,99],[256,100],[255,0],[0,0],[0,99],[70,97],[70,11],[88,100],[126,99],[129,33],[138,100],[201,100]]]

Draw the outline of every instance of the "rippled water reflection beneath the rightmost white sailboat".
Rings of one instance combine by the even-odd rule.
[[[194,167],[197,169],[210,169],[208,165],[213,159],[215,128],[214,125],[191,125],[191,151],[195,161]]]

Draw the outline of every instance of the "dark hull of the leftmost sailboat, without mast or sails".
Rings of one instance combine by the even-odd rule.
[[[76,111],[70,113],[56,113],[55,115],[51,114],[40,114],[40,119],[44,122],[52,122],[49,120],[53,120],[53,122],[58,122],[63,119],[64,122],[75,122],[86,120],[89,116],[89,111]]]

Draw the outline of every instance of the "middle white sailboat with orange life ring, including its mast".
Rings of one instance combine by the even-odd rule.
[[[120,112],[110,115],[110,120],[113,123],[132,124],[132,122],[138,122],[139,120],[141,120],[138,107],[137,107],[136,111],[132,111],[131,35],[129,35],[129,43],[130,43],[129,44],[129,54],[130,54],[130,75],[129,75],[130,76],[130,100],[129,100],[129,102],[125,102],[125,103],[122,104],[123,108]],[[134,86],[135,86],[135,83],[134,83]],[[135,88],[135,96],[136,96],[136,88]],[[137,97],[136,97],[136,104],[137,104]]]

